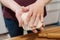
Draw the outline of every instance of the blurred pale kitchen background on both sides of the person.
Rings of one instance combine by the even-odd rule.
[[[46,5],[47,16],[44,18],[46,27],[60,26],[60,0],[52,0]],[[5,26],[2,5],[0,3],[0,40],[10,38]]]

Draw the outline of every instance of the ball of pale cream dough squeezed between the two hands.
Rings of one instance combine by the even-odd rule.
[[[29,26],[26,26],[26,25],[25,25],[25,21],[26,21],[27,15],[28,15],[28,13],[23,13],[22,16],[21,16],[21,18],[22,18],[22,20],[23,20],[23,22],[24,22],[24,24],[23,24],[23,29],[24,29],[24,30],[32,30],[32,28],[30,28]],[[38,28],[40,28],[41,26],[42,26],[42,23],[39,21],[39,23],[38,23],[38,25],[37,25],[36,28],[38,29]]]

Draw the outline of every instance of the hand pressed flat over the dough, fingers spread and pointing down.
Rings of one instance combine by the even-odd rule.
[[[29,8],[28,16],[26,19],[26,25],[33,28],[37,26],[38,22],[43,22],[43,15],[44,15],[44,3],[40,1],[36,1],[34,4],[27,6]],[[40,28],[41,29],[41,28]],[[33,32],[37,32],[35,29]]]

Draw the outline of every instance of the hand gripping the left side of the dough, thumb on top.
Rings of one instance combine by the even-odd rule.
[[[28,11],[28,8],[25,8],[25,7],[20,7],[19,9],[16,10],[16,18],[18,20],[18,23],[19,23],[19,27],[22,27],[22,24],[23,24],[23,20],[21,18],[22,14],[24,12]]]

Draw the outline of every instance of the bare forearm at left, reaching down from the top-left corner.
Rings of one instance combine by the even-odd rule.
[[[0,0],[0,2],[14,12],[21,7],[14,0]]]

